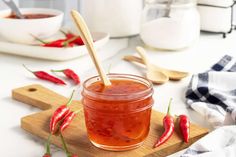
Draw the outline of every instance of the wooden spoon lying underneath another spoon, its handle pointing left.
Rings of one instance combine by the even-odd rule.
[[[144,64],[144,61],[142,60],[142,58],[136,57],[136,56],[131,56],[131,55],[124,56],[124,60],[127,60],[129,62],[137,62],[137,63]],[[169,76],[170,80],[178,81],[178,80],[181,80],[181,79],[187,77],[189,74],[188,72],[170,70],[170,69],[159,67],[154,64],[151,64],[150,66],[152,67],[152,69],[156,69],[157,71],[161,71],[161,72],[165,73],[167,76]]]

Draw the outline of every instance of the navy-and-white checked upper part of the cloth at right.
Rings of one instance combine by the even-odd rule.
[[[193,75],[186,99],[213,127],[236,124],[236,60],[226,55],[210,70]]]

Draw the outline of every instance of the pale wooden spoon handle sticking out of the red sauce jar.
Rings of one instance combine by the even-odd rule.
[[[111,85],[110,80],[107,78],[107,76],[106,76],[106,74],[105,74],[105,72],[104,72],[104,70],[101,66],[101,63],[98,60],[96,51],[94,49],[92,36],[89,32],[89,29],[88,29],[83,17],[75,10],[71,11],[71,15],[74,19],[75,24],[77,25],[77,27],[80,31],[81,38],[83,39],[83,41],[86,45],[86,48],[88,49],[88,52],[89,52],[95,66],[96,66],[96,69],[97,69],[104,85],[105,86]]]

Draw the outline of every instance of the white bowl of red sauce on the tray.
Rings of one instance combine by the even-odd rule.
[[[47,38],[55,34],[60,28],[64,13],[55,9],[22,8],[22,14],[49,14],[53,17],[40,19],[12,19],[5,18],[11,14],[10,10],[0,11],[0,36],[10,42],[34,44],[35,38]],[[32,36],[33,35],[33,36]]]

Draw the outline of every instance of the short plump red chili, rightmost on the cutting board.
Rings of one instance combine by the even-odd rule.
[[[189,141],[189,132],[190,132],[190,122],[186,115],[179,116],[179,128],[182,133],[184,142],[188,143]]]

